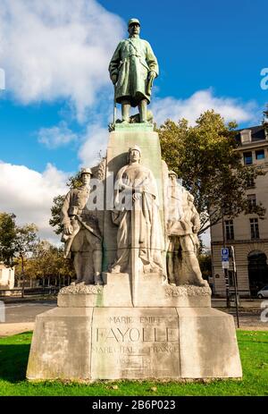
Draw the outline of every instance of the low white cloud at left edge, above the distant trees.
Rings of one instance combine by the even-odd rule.
[[[0,211],[14,213],[18,224],[37,224],[41,239],[59,241],[48,222],[53,198],[67,192],[68,176],[50,164],[38,173],[0,161]]]

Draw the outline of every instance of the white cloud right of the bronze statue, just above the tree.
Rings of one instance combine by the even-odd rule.
[[[167,118],[173,121],[186,118],[189,123],[194,124],[199,115],[208,109],[214,109],[227,122],[245,123],[255,121],[254,102],[243,104],[239,99],[231,97],[214,97],[212,89],[199,90],[188,99],[156,98],[152,104],[155,121],[159,125]]]

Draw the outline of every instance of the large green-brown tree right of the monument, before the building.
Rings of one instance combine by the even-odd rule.
[[[167,120],[157,130],[163,159],[195,197],[201,212],[199,234],[219,223],[223,215],[233,218],[247,213],[248,182],[263,174],[254,165],[242,164],[236,128],[236,123],[226,125],[222,116],[211,110],[201,114],[195,126],[189,126],[185,119],[178,123]],[[261,204],[253,208],[264,216]]]

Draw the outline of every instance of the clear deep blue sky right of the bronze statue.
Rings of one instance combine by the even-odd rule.
[[[125,21],[132,14],[140,18],[141,36],[154,46],[161,67],[159,96],[188,97],[214,87],[217,95],[264,104],[259,76],[267,66],[267,1],[100,3]]]

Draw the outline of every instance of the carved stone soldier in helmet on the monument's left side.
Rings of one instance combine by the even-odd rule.
[[[73,257],[75,283],[102,284],[102,235],[96,216],[87,207],[91,174],[89,168],[82,168],[83,185],[70,190],[63,201],[62,240],[65,257]]]

